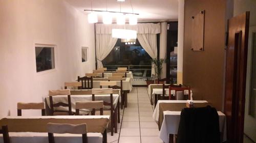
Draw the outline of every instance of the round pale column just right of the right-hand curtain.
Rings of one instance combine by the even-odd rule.
[[[159,48],[159,58],[166,58],[166,46],[167,46],[167,22],[161,23],[161,33],[160,33],[160,48]],[[162,65],[161,79],[166,78],[166,63]]]

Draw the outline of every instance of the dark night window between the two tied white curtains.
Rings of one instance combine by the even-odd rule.
[[[152,58],[142,48],[139,41],[118,39],[115,47],[102,61],[104,67],[115,71],[117,67],[127,67],[135,78],[151,77]]]

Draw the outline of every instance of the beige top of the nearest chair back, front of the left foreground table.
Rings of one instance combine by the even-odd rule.
[[[86,124],[73,125],[73,124],[48,123],[47,130],[49,133],[86,134],[87,125]]]

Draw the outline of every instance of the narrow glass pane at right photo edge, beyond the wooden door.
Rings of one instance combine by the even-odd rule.
[[[253,33],[252,44],[252,71],[251,71],[251,85],[250,85],[250,101],[249,101],[249,115],[255,117],[256,115],[256,33]]]

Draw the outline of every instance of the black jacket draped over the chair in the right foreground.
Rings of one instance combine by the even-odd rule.
[[[177,143],[220,143],[219,115],[214,107],[184,108]]]

